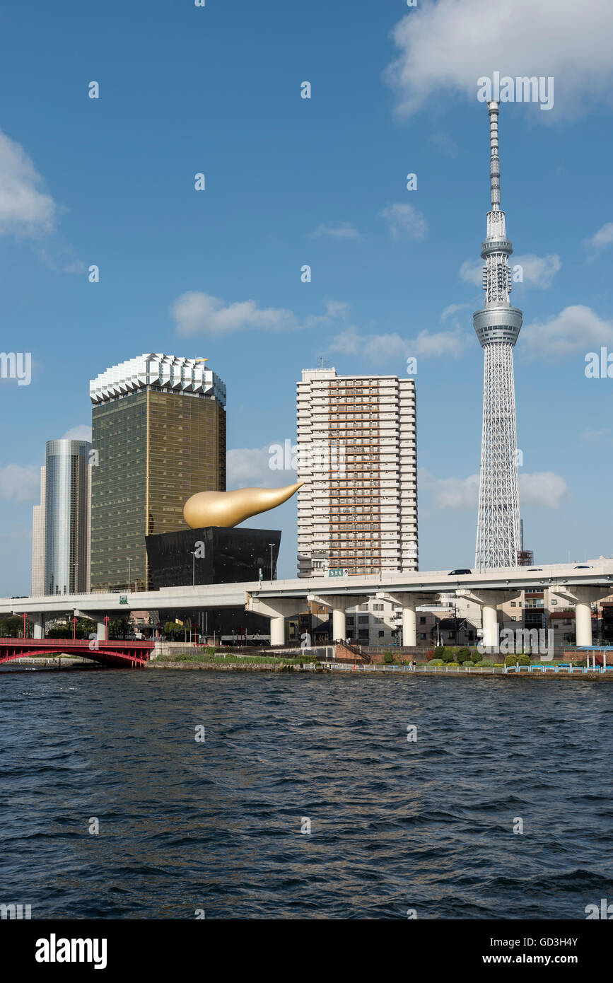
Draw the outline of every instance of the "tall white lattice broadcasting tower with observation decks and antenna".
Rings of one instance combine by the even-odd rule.
[[[509,301],[513,247],[507,239],[505,213],[500,210],[499,106],[499,102],[487,103],[491,210],[487,213],[487,237],[481,245],[485,303],[473,316],[483,349],[483,432],[474,555],[474,567],[479,571],[517,566],[521,549],[513,349],[522,327],[522,312]]]

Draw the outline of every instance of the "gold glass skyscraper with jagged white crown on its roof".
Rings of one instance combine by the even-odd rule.
[[[226,389],[202,359],[142,355],[89,383],[91,590],[150,586],[144,537],[226,488]]]

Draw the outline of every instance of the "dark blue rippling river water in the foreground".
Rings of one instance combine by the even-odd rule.
[[[613,899],[607,683],[5,671],[0,706],[0,901],[32,918],[585,918]]]

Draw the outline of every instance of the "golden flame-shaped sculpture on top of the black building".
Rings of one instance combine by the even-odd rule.
[[[236,492],[197,492],[183,506],[183,517],[192,529],[223,526],[229,529],[252,515],[282,505],[304,482],[284,489],[237,489]]]

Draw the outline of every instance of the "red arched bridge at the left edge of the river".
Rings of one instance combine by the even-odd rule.
[[[146,665],[155,642],[105,642],[101,639],[0,638],[0,665],[13,659],[34,656],[83,656],[105,665],[141,668]]]

